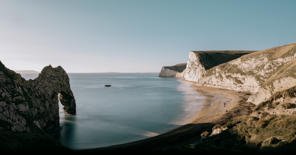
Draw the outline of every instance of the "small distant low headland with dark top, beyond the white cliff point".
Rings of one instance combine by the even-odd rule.
[[[159,77],[183,76],[187,63],[178,63],[174,66],[163,66],[158,74]]]

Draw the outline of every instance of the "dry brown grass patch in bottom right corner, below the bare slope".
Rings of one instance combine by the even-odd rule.
[[[255,153],[260,148],[282,152],[295,150],[296,115],[258,119],[251,116],[236,118],[222,133],[204,138],[195,148],[208,150],[240,150]]]

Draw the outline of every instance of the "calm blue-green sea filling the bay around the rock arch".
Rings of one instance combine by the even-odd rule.
[[[38,74],[21,74],[35,79]],[[193,83],[158,73],[68,73],[76,113],[59,102],[61,130],[54,137],[72,150],[157,136],[192,120],[205,97]],[[105,87],[105,85],[111,85]]]

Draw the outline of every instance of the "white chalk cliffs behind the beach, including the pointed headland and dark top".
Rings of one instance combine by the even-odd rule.
[[[253,95],[248,102],[255,105],[274,92],[296,85],[296,43],[261,51],[242,51],[241,56],[234,51],[225,52],[191,51],[186,69],[178,77],[196,81],[199,86],[250,91]],[[232,57],[230,53],[236,54]]]

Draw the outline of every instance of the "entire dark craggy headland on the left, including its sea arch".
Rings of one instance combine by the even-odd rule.
[[[69,81],[61,66],[46,66],[26,81],[0,61],[0,129],[48,132],[59,125],[59,100],[68,113],[76,110]]]

